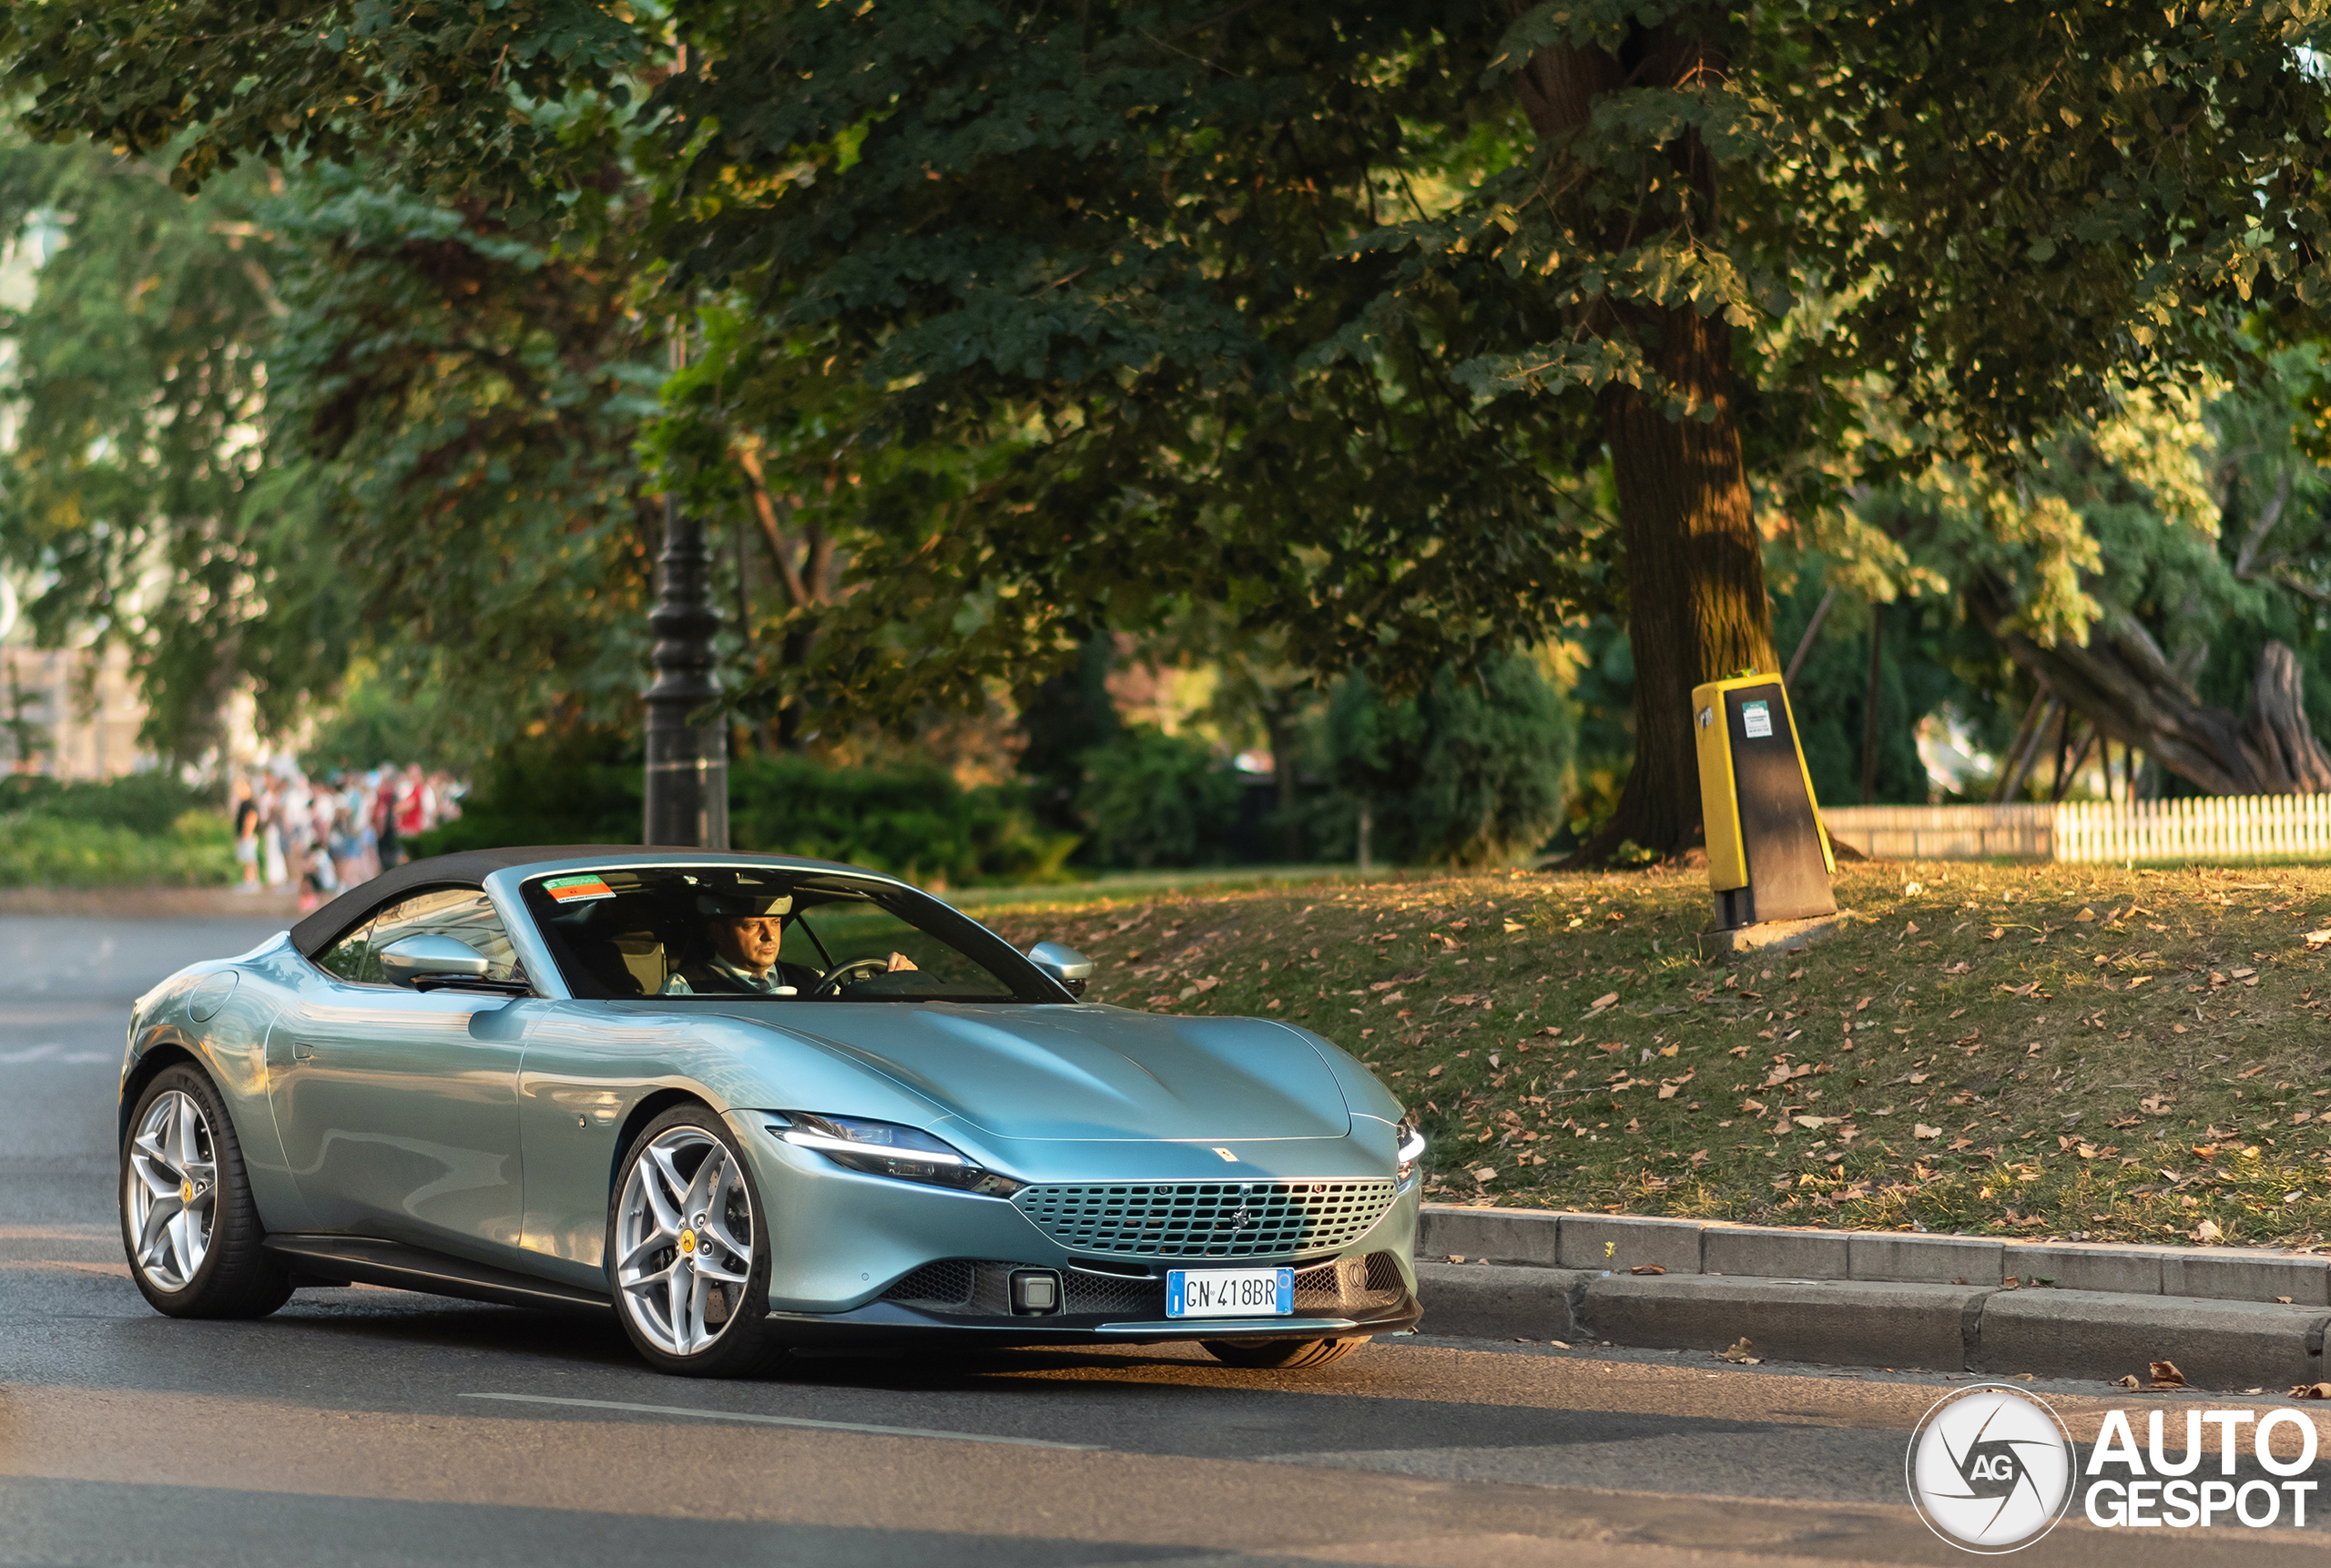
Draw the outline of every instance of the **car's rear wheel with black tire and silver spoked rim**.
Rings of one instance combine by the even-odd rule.
[[[259,1246],[235,1123],[196,1067],[166,1067],[138,1095],[119,1198],[131,1279],[156,1312],[256,1319],[291,1300],[291,1270]]]

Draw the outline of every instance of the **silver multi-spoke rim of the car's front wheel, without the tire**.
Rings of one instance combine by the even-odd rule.
[[[615,1291],[667,1356],[709,1349],[741,1316],[753,1198],[727,1144],[671,1128],[639,1151],[615,1209]]]

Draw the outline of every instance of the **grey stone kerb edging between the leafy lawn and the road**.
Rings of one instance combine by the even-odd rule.
[[[1422,1330],[1928,1372],[2315,1384],[2331,1258],[1427,1205]]]

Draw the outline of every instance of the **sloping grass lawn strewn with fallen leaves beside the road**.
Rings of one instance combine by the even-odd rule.
[[[1366,1060],[1443,1202],[1979,1235],[2331,1237],[2331,867],[1839,869],[1846,934],[1704,965],[1695,871],[1406,876],[988,913],[1093,995]],[[2331,941],[2331,937],[2324,937]],[[2317,990],[2324,997],[2317,1000]]]

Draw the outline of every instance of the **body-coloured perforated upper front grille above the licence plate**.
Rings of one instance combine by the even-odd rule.
[[[1075,1251],[1301,1258],[1350,1246],[1392,1207],[1389,1179],[1030,1186],[1012,1202]]]

